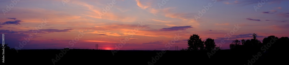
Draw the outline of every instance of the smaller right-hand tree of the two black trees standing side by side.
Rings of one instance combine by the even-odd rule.
[[[214,39],[212,38],[208,38],[206,41],[205,41],[205,50],[211,50],[211,49],[216,49],[216,44],[214,42]]]

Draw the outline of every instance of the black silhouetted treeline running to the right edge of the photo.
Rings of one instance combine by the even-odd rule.
[[[288,47],[287,44],[289,43],[288,37],[281,37],[278,38],[276,36],[268,36],[267,38],[263,39],[263,43],[260,40],[257,40],[256,34],[253,34],[253,39],[251,40],[244,40],[242,39],[241,42],[239,40],[233,40],[233,42],[230,44],[230,49],[232,50],[250,50],[250,49],[256,49],[256,50],[265,50],[269,48],[276,49],[278,47]],[[241,43],[241,44],[240,44]],[[281,49],[279,48],[279,49]]]

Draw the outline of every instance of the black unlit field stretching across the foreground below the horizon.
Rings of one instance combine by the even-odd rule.
[[[288,51],[286,50],[267,50],[265,53],[262,50],[219,50],[209,58],[207,52],[211,53],[211,51],[165,51],[160,57],[161,54],[158,55],[157,53],[162,53],[162,51],[120,50],[112,55],[111,50],[69,49],[62,57],[56,59],[58,57],[56,54],[61,55],[63,53],[60,50],[18,50],[18,53],[5,51],[4,65],[53,65],[52,59],[57,61],[55,65],[149,65],[148,62],[151,62],[151,65],[248,65],[248,60],[253,61],[249,62],[249,65],[251,63],[253,65],[288,64]],[[258,52],[262,52],[262,55],[257,58]],[[254,61],[253,55],[255,55],[255,60],[257,58],[256,61]]]

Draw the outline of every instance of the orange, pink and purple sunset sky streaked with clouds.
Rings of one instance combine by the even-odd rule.
[[[271,35],[288,37],[289,0],[268,0],[259,3],[260,8],[258,1],[262,0],[116,0],[114,4],[113,0],[1,0],[0,33],[12,48],[33,35],[21,49],[95,49],[92,46],[99,44],[99,49],[112,50],[128,37],[120,50],[161,50],[179,35],[169,49],[175,50],[175,46],[187,48],[192,34],[203,41],[212,38],[216,44],[225,40],[222,49],[229,49],[232,40],[251,39],[253,33],[260,41]],[[206,10],[208,3],[211,7]],[[206,11],[199,16],[202,10]],[[231,35],[235,26],[240,28]],[[228,33],[229,39],[224,37]],[[75,38],[79,41],[72,46]]]

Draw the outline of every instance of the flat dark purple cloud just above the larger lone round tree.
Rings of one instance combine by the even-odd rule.
[[[174,26],[170,28],[162,28],[160,31],[180,31],[180,30],[186,30],[188,28],[193,28],[191,26]]]

